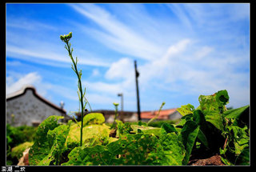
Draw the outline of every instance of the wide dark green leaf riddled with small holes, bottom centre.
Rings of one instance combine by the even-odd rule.
[[[154,134],[127,134],[107,146],[77,147],[68,157],[62,165],[154,165],[164,160]]]

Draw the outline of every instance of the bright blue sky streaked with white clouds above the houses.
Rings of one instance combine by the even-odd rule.
[[[234,108],[250,104],[250,4],[6,4],[6,93],[23,85],[69,113],[77,78],[61,34],[82,70],[93,110],[198,106],[200,94],[227,90]],[[89,107],[88,107],[89,108]]]

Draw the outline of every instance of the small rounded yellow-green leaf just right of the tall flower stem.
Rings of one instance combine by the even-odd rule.
[[[83,126],[91,124],[102,124],[103,122],[105,122],[105,118],[101,113],[86,114],[86,116],[83,118]]]

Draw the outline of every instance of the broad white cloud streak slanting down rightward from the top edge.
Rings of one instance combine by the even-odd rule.
[[[101,26],[103,31],[90,28],[90,34],[110,49],[147,60],[154,59],[162,53],[161,46],[143,38],[137,31],[118,21],[101,7],[93,4],[72,4],[70,6]],[[85,29],[88,30],[86,27]]]

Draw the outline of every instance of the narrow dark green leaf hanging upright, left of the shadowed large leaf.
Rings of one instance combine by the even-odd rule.
[[[180,137],[182,137],[182,142],[186,149],[186,154],[182,161],[183,165],[186,165],[190,160],[190,154],[194,146],[195,139],[198,137],[198,131],[199,126],[193,121],[187,121],[182,128]]]

